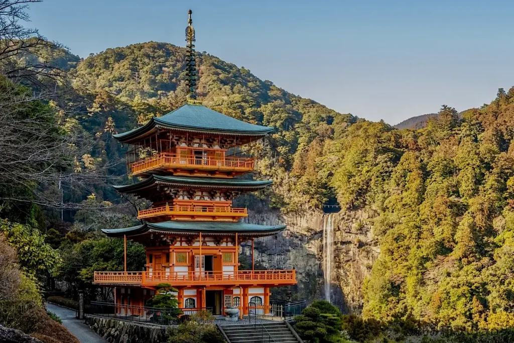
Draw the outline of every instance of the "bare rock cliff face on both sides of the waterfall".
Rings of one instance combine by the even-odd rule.
[[[267,269],[297,270],[298,299],[324,299],[323,216],[322,212],[282,215],[278,211],[250,212],[247,221],[254,224],[286,224],[277,236],[255,240],[255,264]],[[378,256],[377,241],[364,211],[341,211],[334,216],[334,255],[332,266],[332,302],[345,313],[362,308],[362,282]],[[243,246],[251,256],[251,245]],[[272,290],[273,296],[284,290]]]

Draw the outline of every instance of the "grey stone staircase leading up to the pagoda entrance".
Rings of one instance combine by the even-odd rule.
[[[303,343],[286,322],[236,324],[219,327],[229,343]]]

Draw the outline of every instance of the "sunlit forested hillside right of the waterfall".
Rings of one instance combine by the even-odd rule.
[[[325,146],[330,184],[372,214],[380,255],[363,315],[463,330],[511,326],[514,88],[421,130],[360,122]]]

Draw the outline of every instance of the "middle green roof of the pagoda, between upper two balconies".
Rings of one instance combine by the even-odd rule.
[[[231,189],[256,191],[264,189],[273,183],[272,180],[244,180],[221,177],[195,176],[161,176],[152,174],[149,178],[133,185],[113,186],[121,193],[140,193],[153,190],[157,186],[171,186],[183,189]]]

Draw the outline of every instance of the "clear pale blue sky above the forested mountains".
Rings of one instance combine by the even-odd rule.
[[[86,57],[147,41],[196,47],[338,112],[390,124],[514,85],[514,2],[45,0],[28,26]]]

